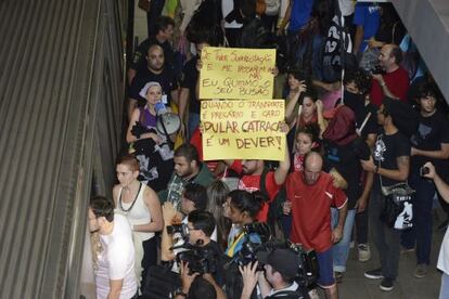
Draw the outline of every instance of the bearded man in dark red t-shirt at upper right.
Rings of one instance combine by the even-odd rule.
[[[400,48],[393,43],[384,44],[379,61],[386,73],[372,75],[371,102],[380,107],[385,96],[406,101],[410,80],[407,70],[399,66],[402,61]]]

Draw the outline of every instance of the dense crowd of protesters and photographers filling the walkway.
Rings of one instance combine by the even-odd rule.
[[[179,273],[171,298],[319,298],[317,288],[338,298],[354,243],[360,262],[379,252],[364,276],[384,291],[402,275],[401,252],[415,251],[413,275],[427,275],[434,199],[449,210],[448,109],[393,4],[290,0],[281,17],[281,0],[181,0],[174,21],[161,15],[165,1],[150,2],[149,38],[127,73],[118,184],[114,198],[89,205],[98,298],[159,298],[163,270]],[[208,46],[277,49],[283,160],[203,160]],[[158,128],[165,113],[179,116],[177,132]],[[398,190],[407,200],[394,202]],[[313,284],[296,280],[298,256],[285,248],[232,265],[247,242],[265,242],[245,229],[258,224],[316,252]],[[198,271],[185,250],[207,252],[215,266]]]

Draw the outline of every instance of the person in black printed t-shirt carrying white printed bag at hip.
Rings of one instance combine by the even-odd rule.
[[[381,257],[381,268],[367,271],[364,276],[372,280],[383,278],[380,288],[385,291],[393,290],[398,275],[400,231],[390,229],[381,220],[385,205],[382,186],[406,182],[409,177],[410,142],[402,132],[409,133],[408,126],[413,127],[410,115],[413,112],[408,104],[384,99],[377,110],[377,122],[382,126],[382,131],[375,143],[374,158],[361,161],[365,171],[375,173],[369,218],[373,243]]]

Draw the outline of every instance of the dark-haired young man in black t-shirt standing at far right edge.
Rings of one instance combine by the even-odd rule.
[[[432,83],[419,87],[420,126],[411,138],[410,186],[416,191],[413,202],[413,226],[402,233],[405,249],[416,245],[416,269],[413,275],[422,278],[427,274],[432,246],[432,208],[435,185],[420,174],[425,162],[440,169],[449,158],[449,121],[437,108],[437,88]]]

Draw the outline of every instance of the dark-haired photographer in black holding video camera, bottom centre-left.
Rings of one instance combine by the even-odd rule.
[[[202,276],[210,283],[217,298],[223,295],[219,285],[222,284],[222,251],[218,244],[210,239],[215,230],[215,219],[210,212],[193,210],[188,217],[189,244],[184,246],[187,251],[177,255],[177,260],[181,262],[182,289],[177,295],[187,296],[190,294],[190,285],[194,277]],[[191,296],[189,296],[190,298]]]

